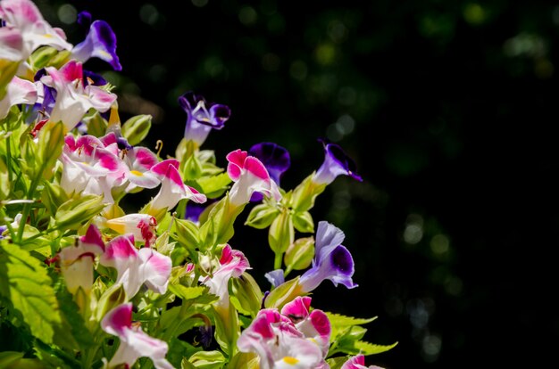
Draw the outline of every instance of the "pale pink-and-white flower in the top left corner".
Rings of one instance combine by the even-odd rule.
[[[53,46],[57,50],[71,50],[72,45],[66,41],[63,30],[48,24],[38,11],[37,5],[29,0],[2,0],[0,19],[8,29],[17,29],[21,35],[21,48],[18,53],[20,61],[26,60],[42,45]]]

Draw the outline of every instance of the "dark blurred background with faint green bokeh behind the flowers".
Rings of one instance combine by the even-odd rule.
[[[174,155],[193,90],[231,108],[203,146],[223,167],[279,143],[291,189],[321,165],[318,137],[355,159],[363,183],[338,177],[312,213],[345,231],[360,286],[322,283],[313,307],[379,316],[366,340],[399,344],[367,365],[555,363],[559,3],[285,3],[38,4],[73,44],[76,11],[112,25],[123,70],[86,65],[117,86],[121,118],[154,116],[152,149]],[[265,232],[230,243],[265,289]]]

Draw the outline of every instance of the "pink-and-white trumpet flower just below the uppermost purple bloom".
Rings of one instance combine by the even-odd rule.
[[[116,94],[89,85],[88,79],[83,77],[79,61],[68,61],[60,70],[46,67],[46,71],[48,75],[41,78],[41,82],[56,90],[56,102],[50,119],[61,120],[68,130],[76,127],[89,109],[108,111],[116,100]]]

